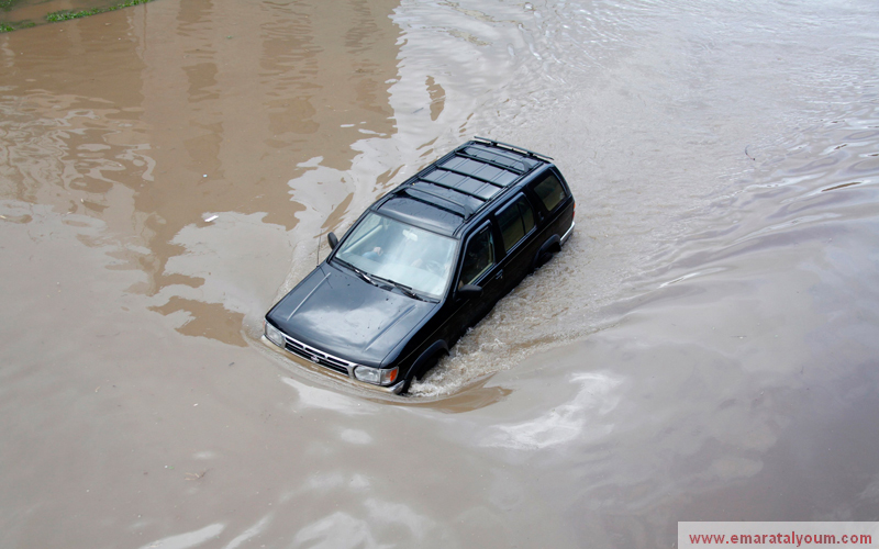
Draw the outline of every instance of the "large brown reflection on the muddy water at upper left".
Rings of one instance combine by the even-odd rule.
[[[218,287],[205,283],[203,261],[187,271],[187,261],[174,259],[251,259],[244,243],[244,255],[232,256],[224,243],[205,246],[211,227],[200,220],[209,215],[226,225],[236,220],[233,238],[251,243],[266,224],[289,232],[304,219],[312,236],[302,240],[311,247],[330,206],[364,193],[323,181],[292,191],[285,183],[318,166],[348,170],[357,154],[351,144],[364,132],[393,132],[389,8],[363,4],[338,16],[320,2],[162,3],[77,22],[64,34],[45,31],[51,40],[37,47],[10,36],[14,55],[5,58],[0,105],[9,144],[3,194],[112,220],[124,242],[113,256],[147,276],[132,291],[153,296],[154,311],[186,313],[183,334],[243,345],[244,316],[262,315],[277,278],[260,278],[259,288],[241,287],[252,285],[248,276],[224,278]],[[243,16],[252,11],[259,16]],[[125,47],[115,47],[120,41]],[[66,70],[67,51],[87,61]],[[124,70],[110,77],[99,66]],[[305,166],[312,158],[320,160]],[[242,219],[254,214],[262,221]],[[289,261],[286,245],[275,251],[279,265]]]

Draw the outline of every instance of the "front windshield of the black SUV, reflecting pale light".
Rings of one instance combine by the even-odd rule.
[[[336,258],[357,269],[439,298],[454,267],[457,240],[368,213]]]

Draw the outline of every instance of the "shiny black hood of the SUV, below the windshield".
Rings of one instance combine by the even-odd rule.
[[[266,316],[301,343],[352,362],[379,366],[435,306],[323,264]]]

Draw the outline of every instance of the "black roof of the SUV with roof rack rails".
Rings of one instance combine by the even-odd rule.
[[[549,160],[515,145],[476,137],[409,178],[372,210],[452,236]]]

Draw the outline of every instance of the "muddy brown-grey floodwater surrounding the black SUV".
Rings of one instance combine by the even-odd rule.
[[[871,0],[157,0],[0,35],[0,547],[879,520],[877,29]],[[409,397],[259,341],[326,232],[474,135],[556,158],[563,254]]]

